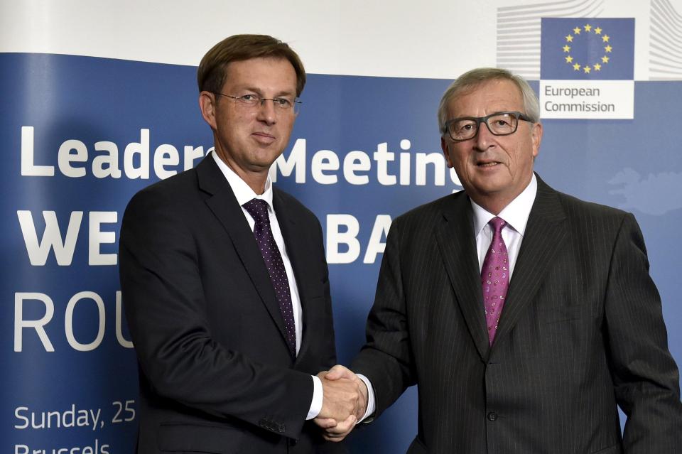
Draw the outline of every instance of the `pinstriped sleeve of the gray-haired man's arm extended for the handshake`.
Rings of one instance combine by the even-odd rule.
[[[391,225],[381,261],[374,306],[367,317],[367,343],[351,369],[363,374],[374,389],[378,417],[416,384],[408,332],[400,256],[400,219]]]

